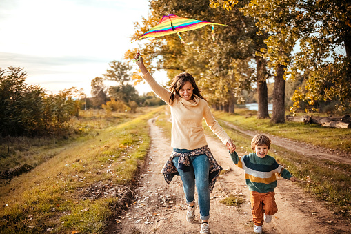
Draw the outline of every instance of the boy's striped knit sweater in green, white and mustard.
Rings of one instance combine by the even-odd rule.
[[[250,153],[239,157],[237,152],[234,152],[230,154],[230,157],[235,165],[245,170],[245,180],[250,191],[274,192],[274,188],[277,187],[276,173],[284,179],[292,177],[290,172],[279,165],[270,155],[261,158],[256,153]]]

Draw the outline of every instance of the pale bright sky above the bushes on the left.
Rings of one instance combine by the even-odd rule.
[[[137,47],[133,23],[148,12],[148,0],[0,0],[0,68],[23,68],[48,93],[74,86],[91,97],[92,79]]]

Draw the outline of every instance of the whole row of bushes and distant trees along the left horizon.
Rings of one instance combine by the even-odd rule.
[[[114,64],[114,62],[112,62]],[[117,68],[117,66],[114,66]],[[113,75],[110,72],[111,79]],[[112,111],[135,111],[138,106],[158,106],[164,102],[150,92],[139,96],[123,77],[119,86],[109,92],[97,77],[92,81],[93,97],[86,97],[83,89],[72,87],[57,94],[47,94],[37,85],[26,84],[23,68],[0,68],[0,137],[59,135],[69,130],[68,121],[79,117],[79,110],[104,108]],[[117,79],[118,81],[118,79]]]

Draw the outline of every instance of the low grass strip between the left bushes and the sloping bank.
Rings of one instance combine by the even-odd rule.
[[[141,113],[143,111],[136,114],[114,113],[111,117],[105,117],[103,110],[86,110],[81,111],[79,118],[74,117],[70,120],[68,126],[72,130],[63,137],[10,137],[3,139],[5,144],[0,144],[0,168],[1,170],[9,170],[23,164],[36,167],[58,155],[65,148],[64,146],[96,137],[102,129],[126,122]]]

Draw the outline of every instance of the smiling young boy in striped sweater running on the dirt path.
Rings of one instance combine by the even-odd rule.
[[[252,220],[254,233],[262,233],[263,220],[269,223],[278,208],[274,199],[274,188],[277,187],[276,173],[292,182],[297,178],[280,166],[274,157],[268,155],[270,139],[265,135],[255,135],[251,148],[255,153],[239,157],[237,152],[230,150],[230,157],[235,165],[245,170],[246,184],[250,190]]]

